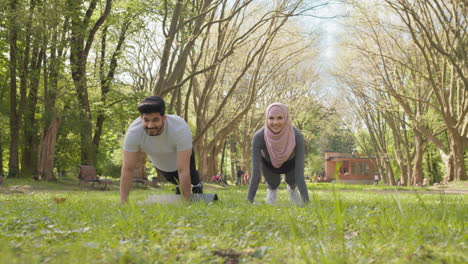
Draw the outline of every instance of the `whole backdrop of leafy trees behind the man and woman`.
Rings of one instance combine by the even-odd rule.
[[[205,179],[249,169],[277,101],[305,136],[307,176],[324,151],[357,149],[388,184],[466,179],[466,5],[369,3],[347,1],[340,90],[324,94],[321,35],[298,18],[328,1],[3,1],[0,174],[54,180],[90,164],[118,177],[137,103],[161,95]]]

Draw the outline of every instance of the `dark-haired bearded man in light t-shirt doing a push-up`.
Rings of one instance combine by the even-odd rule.
[[[138,152],[145,152],[156,170],[177,185],[176,194],[186,201],[191,192],[203,193],[192,151],[192,133],[179,116],[166,115],[160,96],[145,98],[139,105],[140,117],[127,130],[120,181],[120,202],[125,203],[136,169]],[[180,188],[179,185],[180,184]]]

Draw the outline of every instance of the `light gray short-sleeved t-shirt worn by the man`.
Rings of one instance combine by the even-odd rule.
[[[192,149],[190,127],[180,116],[166,115],[164,130],[159,136],[149,136],[139,117],[125,134],[124,150],[145,152],[151,163],[162,171],[177,170],[177,152]]]

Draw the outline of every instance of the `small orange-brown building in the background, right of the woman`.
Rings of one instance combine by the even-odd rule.
[[[325,177],[342,183],[372,184],[376,171],[375,157],[358,153],[325,152]]]

